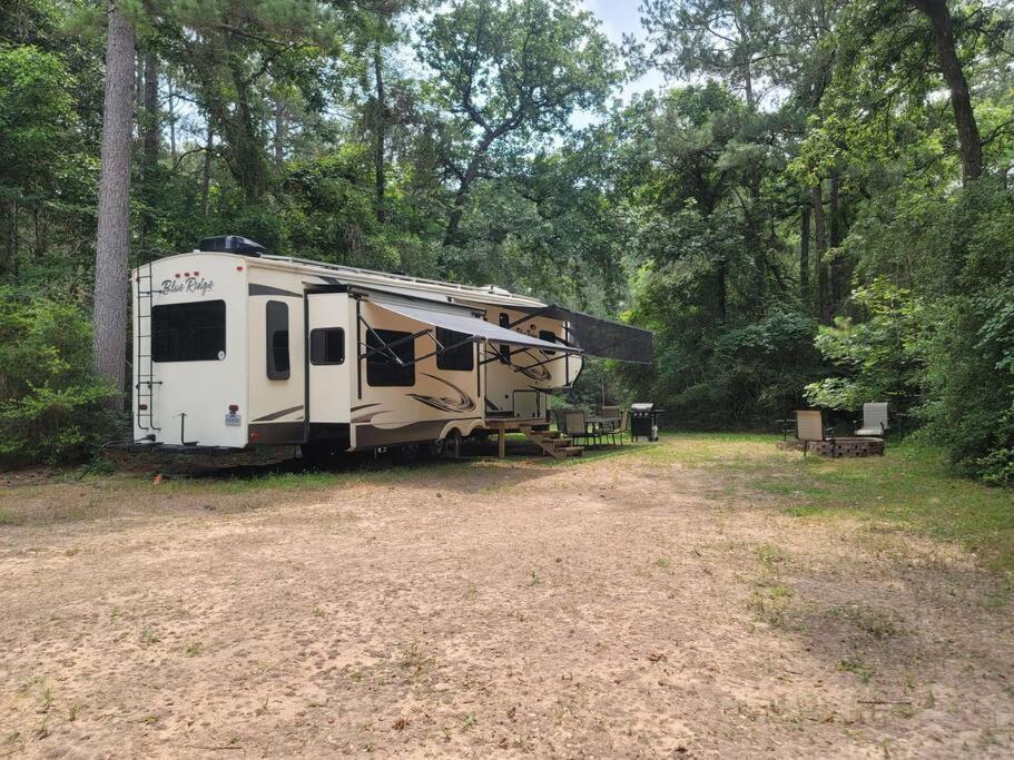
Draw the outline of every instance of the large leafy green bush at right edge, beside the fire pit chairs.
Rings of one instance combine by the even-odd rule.
[[[870,206],[857,225],[856,253],[880,296],[863,325],[821,333],[846,377],[811,398],[918,393],[925,435],[956,470],[1014,485],[1014,193],[985,177],[951,194],[897,195],[892,215]],[[910,286],[922,306],[878,275]]]

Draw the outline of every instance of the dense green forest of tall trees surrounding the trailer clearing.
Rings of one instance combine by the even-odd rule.
[[[121,437],[134,255],[234,233],[648,327],[653,366],[583,382],[675,426],[888,399],[1014,484],[1010,3],[640,14],[614,45],[573,0],[0,4],[0,461]]]

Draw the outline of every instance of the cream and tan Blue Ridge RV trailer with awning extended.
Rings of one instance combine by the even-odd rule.
[[[208,238],[132,272],[134,447],[435,451],[549,423],[583,356],[651,334],[496,287],[267,255]]]

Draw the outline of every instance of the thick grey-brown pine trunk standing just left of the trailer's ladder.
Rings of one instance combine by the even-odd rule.
[[[109,0],[106,32],[106,91],[102,103],[101,172],[95,246],[96,373],[120,393],[124,407],[127,353],[127,259],[130,248],[130,147],[134,111],[134,27]]]

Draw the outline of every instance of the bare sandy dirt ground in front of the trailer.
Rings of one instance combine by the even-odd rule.
[[[32,485],[100,516],[0,525],[0,756],[1011,757],[995,579],[730,478]]]

